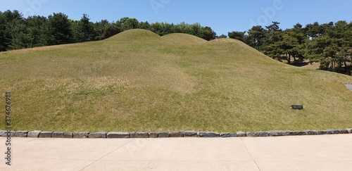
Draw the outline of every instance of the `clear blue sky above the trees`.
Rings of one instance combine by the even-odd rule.
[[[351,0],[0,0],[0,11],[18,10],[27,15],[65,13],[80,20],[83,13],[91,21],[111,22],[123,17],[149,23],[201,23],[218,35],[246,31],[253,25],[279,21],[282,29],[296,23],[352,21]]]

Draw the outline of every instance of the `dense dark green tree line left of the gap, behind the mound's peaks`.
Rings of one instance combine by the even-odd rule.
[[[24,18],[19,11],[0,11],[0,51],[101,40],[137,28],[151,30],[161,36],[187,33],[206,40],[216,37],[210,27],[203,27],[199,23],[150,24],[135,18],[121,18],[112,23],[108,20],[93,23],[87,14],[83,14],[80,20],[70,20],[64,13]]]

